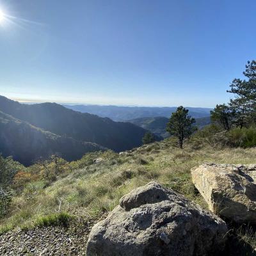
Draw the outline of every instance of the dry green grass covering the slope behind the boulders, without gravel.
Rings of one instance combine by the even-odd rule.
[[[172,139],[121,156],[113,152],[91,153],[72,163],[79,166],[77,170],[58,177],[49,186],[34,182],[21,195],[14,196],[10,211],[0,221],[0,232],[15,227],[67,225],[72,218],[97,218],[118,205],[123,195],[150,180],[157,180],[206,208],[191,182],[191,168],[205,162],[252,164],[255,153],[256,148],[207,145],[195,150],[191,143],[180,150]],[[96,157],[103,161],[94,164],[92,159]]]

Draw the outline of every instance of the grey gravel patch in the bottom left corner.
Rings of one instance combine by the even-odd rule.
[[[85,255],[88,235],[98,221],[72,223],[67,228],[36,227],[6,232],[0,236],[0,255]]]

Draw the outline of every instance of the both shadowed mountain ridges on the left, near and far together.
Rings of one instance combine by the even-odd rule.
[[[146,132],[129,122],[114,122],[56,103],[20,104],[0,96],[0,111],[0,153],[23,164],[56,151],[71,160],[103,148],[129,150],[141,145]]]

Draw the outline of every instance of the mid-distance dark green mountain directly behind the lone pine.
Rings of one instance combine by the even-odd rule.
[[[166,132],[166,124],[169,122],[169,118],[163,116],[136,118],[133,120],[128,120],[127,122],[138,125],[163,138],[167,138],[168,136],[170,136],[170,134]],[[199,128],[210,124],[210,122],[210,116],[196,118],[196,125]]]

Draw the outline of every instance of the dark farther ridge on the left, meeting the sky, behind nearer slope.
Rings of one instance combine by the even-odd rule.
[[[54,134],[97,143],[115,151],[141,145],[145,129],[127,122],[114,122],[56,103],[20,104],[0,96],[0,111]]]

